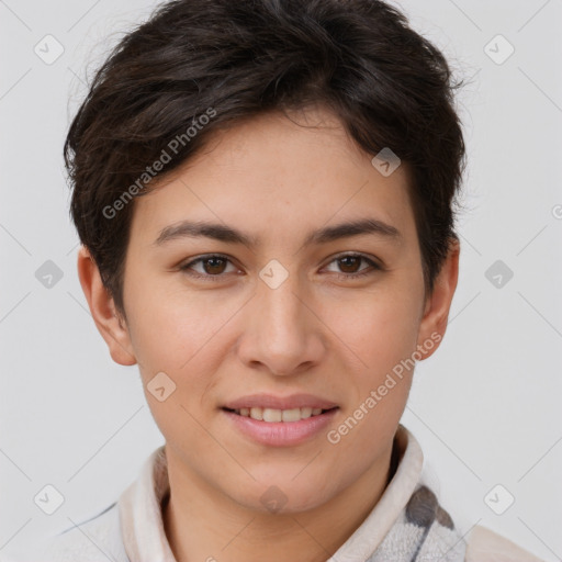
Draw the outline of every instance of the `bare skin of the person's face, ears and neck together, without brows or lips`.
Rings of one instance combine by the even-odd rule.
[[[326,431],[294,447],[258,445],[221,409],[256,392],[311,393],[338,404],[334,429],[431,334],[445,335],[459,244],[426,295],[407,169],[384,177],[371,158],[321,108],[292,120],[263,114],[215,135],[166,184],[134,202],[126,321],[88,251],[79,252],[98,329],[114,361],[138,363],[166,439],[171,498],[162,516],[179,562],[261,561],[266,544],[272,562],[325,561],[386,486],[413,370],[337,445]],[[362,217],[396,227],[400,243],[367,234],[303,246],[311,231]],[[186,218],[224,223],[260,244],[154,244],[164,227]],[[218,281],[179,269],[213,252],[231,261],[199,262],[191,271]],[[334,257],[340,252],[362,254],[383,269],[341,262]],[[289,273],[277,289],[259,278],[271,259]],[[371,272],[352,278],[364,270]],[[146,391],[160,371],[177,385],[165,402]],[[286,498],[278,513],[260,501],[271,485]]]

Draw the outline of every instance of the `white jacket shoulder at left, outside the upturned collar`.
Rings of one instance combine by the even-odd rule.
[[[48,538],[43,546],[45,562],[130,562],[121,536],[117,504],[97,516]]]

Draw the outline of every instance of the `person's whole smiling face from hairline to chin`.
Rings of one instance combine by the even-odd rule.
[[[265,493],[305,510],[383,470],[454,290],[424,297],[405,167],[380,173],[328,112],[294,120],[223,132],[136,199],[126,324],[109,337],[97,319],[139,364],[170,465],[260,510]]]

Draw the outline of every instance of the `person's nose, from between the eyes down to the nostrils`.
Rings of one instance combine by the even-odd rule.
[[[311,292],[302,285],[295,272],[279,286],[258,280],[257,293],[244,311],[238,341],[238,356],[247,367],[291,375],[322,361],[325,328]]]

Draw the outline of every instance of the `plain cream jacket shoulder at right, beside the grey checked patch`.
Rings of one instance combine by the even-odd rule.
[[[465,562],[542,562],[515,542],[476,525],[467,537]]]

